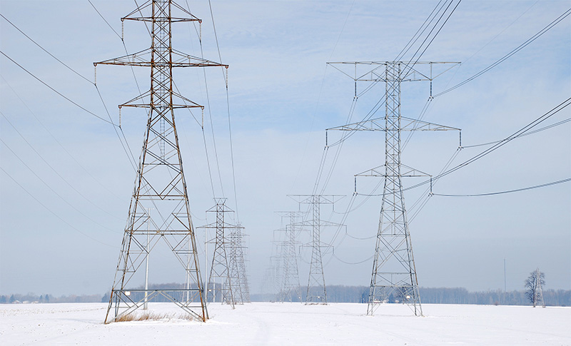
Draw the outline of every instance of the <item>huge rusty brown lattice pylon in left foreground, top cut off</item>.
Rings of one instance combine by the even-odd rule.
[[[203,106],[173,91],[173,68],[228,66],[173,49],[171,25],[201,20],[171,0],[147,1],[121,18],[124,20],[151,23],[151,48],[94,65],[150,67],[151,88],[119,106],[120,110],[148,108],[148,117],[105,322],[118,320],[156,298],[173,302],[196,319],[206,321],[208,311],[173,112],[175,108]],[[142,265],[159,243],[166,245],[176,267],[161,268],[161,274],[178,268],[181,279],[191,278],[186,288],[141,289],[145,272]]]

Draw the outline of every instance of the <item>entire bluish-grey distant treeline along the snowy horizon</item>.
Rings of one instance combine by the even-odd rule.
[[[180,288],[183,288],[180,284]],[[173,284],[149,285],[151,289],[173,288]],[[217,288],[219,290],[219,288]],[[307,288],[300,288],[301,299],[305,301]],[[327,287],[328,302],[361,302],[368,301],[369,288],[366,286],[343,286],[331,285]],[[158,297],[157,297],[158,298]],[[251,295],[253,302],[278,301],[277,295]],[[289,299],[287,299],[289,300]],[[502,290],[490,290],[482,292],[470,292],[465,288],[420,288],[420,300],[423,303],[434,304],[477,304],[477,305],[530,305],[525,296],[525,291],[503,292]],[[548,306],[571,306],[571,290],[544,290],[543,300]],[[0,295],[0,304],[9,303],[48,303],[48,302],[108,302],[109,295]],[[153,301],[162,301],[161,298]],[[165,299],[166,301],[166,299]],[[291,301],[298,302],[295,294]]]

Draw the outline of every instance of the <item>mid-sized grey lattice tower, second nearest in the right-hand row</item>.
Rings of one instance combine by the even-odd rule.
[[[322,243],[321,228],[325,226],[342,227],[338,223],[321,220],[320,208],[322,204],[335,204],[342,195],[289,195],[291,198],[298,198],[298,203],[310,205],[311,220],[304,220],[297,223],[299,227],[311,228],[311,262],[309,265],[308,290],[305,296],[305,305],[323,304],[327,305],[327,290],[325,289],[325,273],[323,273],[323,260],[321,248],[329,246]]]

